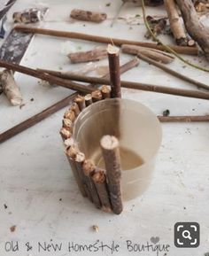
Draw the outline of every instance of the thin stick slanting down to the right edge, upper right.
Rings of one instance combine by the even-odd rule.
[[[188,81],[188,82],[196,85],[198,88],[209,89],[209,86],[206,85],[205,83],[200,82],[200,81],[196,81],[194,79],[191,79],[189,76],[186,76],[184,74],[176,72],[173,69],[170,69],[169,67],[167,67],[167,66],[165,66],[165,65],[163,65],[163,64],[161,64],[161,63],[159,63],[155,60],[152,60],[151,58],[148,58],[148,57],[144,56],[143,54],[138,53],[137,56],[138,56],[138,58],[143,59],[143,61],[146,61],[147,63],[149,63],[153,66],[159,67],[160,69],[164,70],[168,74],[172,74],[172,75],[182,79],[183,81]]]

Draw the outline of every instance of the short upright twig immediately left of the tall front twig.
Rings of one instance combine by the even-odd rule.
[[[104,173],[104,170],[97,169],[94,175],[92,175],[92,180],[94,181],[95,186],[97,188],[97,193],[102,204],[102,210],[105,213],[112,212],[110,198],[108,195],[106,185],[106,175]]]

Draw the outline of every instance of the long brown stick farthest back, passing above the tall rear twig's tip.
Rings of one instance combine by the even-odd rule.
[[[118,45],[118,46],[120,46],[121,44],[132,44],[132,45],[139,45],[139,46],[158,49],[158,50],[165,50],[165,48],[162,45],[159,45],[157,43],[145,43],[145,42],[104,37],[104,36],[98,36],[98,35],[87,35],[87,34],[81,34],[76,32],[69,32],[69,31],[58,31],[58,30],[38,28],[38,27],[26,27],[21,25],[16,26],[15,29],[25,33],[74,38],[74,39],[97,42],[97,43],[113,42],[115,45]],[[176,52],[182,53],[182,54],[197,55],[198,53],[198,50],[196,47],[187,47],[187,46],[178,46],[178,45],[169,45],[169,47],[175,50]]]

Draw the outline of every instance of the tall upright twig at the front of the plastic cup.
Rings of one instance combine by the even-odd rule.
[[[114,136],[103,136],[100,145],[103,152],[107,175],[107,186],[110,192],[112,212],[120,214],[123,210],[121,198],[121,168],[119,141]]]

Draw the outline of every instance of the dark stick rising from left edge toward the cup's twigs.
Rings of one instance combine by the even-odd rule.
[[[6,140],[12,138],[12,136],[18,135],[20,132],[26,130],[27,128],[30,128],[40,122],[41,120],[44,120],[51,114],[58,112],[60,109],[66,107],[69,105],[69,102],[74,98],[74,94],[70,95],[68,97],[65,97],[64,99],[58,101],[56,104],[51,105],[50,107],[44,109],[42,112],[39,112],[35,114],[35,116],[24,120],[23,122],[19,123],[18,125],[14,126],[13,128],[10,128],[0,134],[0,144],[4,143]]]

